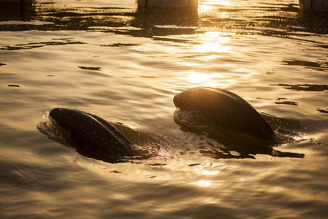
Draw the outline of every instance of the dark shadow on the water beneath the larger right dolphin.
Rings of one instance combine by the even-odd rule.
[[[279,118],[273,117],[269,114],[265,115],[261,113],[261,115],[274,129],[278,129],[281,125],[287,124],[291,129],[293,129],[295,126],[302,127],[300,124],[295,125],[291,121],[279,121]],[[268,117],[270,117],[270,120],[268,120]],[[175,112],[174,122],[178,124],[180,129],[184,132],[204,135],[218,143],[213,144],[211,142],[207,142],[207,144],[212,148],[207,150],[199,150],[201,154],[210,156],[212,158],[255,159],[257,154],[291,158],[303,158],[305,156],[301,153],[281,152],[272,148],[272,146],[279,146],[282,144],[295,142],[290,131],[279,130],[281,133],[276,132],[276,134],[278,134],[277,143],[265,144],[264,142],[257,142],[257,140],[254,140],[249,136],[239,135],[236,132],[224,130],[222,127],[218,128],[214,122],[204,122],[204,120],[198,117],[198,115],[196,115],[196,117],[192,117],[191,119],[187,118],[186,121],[184,118],[179,118],[179,115]],[[283,136],[283,132],[289,133],[289,137]]]

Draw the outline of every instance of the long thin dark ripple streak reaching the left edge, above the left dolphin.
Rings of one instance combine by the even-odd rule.
[[[71,44],[86,44],[83,42],[74,42],[74,41],[67,41],[67,42],[39,42],[39,43],[28,43],[28,44],[19,44],[15,46],[3,46],[0,50],[22,50],[22,49],[34,49],[40,48],[44,46],[60,46],[60,45],[71,45]]]

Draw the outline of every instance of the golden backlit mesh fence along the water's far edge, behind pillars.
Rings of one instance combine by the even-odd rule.
[[[148,4],[167,4],[173,6],[182,2],[196,3],[198,15],[243,13],[245,11],[261,13],[261,11],[278,11],[281,8],[297,8],[298,0],[36,0],[34,5],[39,11],[43,10],[77,10],[77,11],[107,11],[107,12],[136,12],[138,6]]]

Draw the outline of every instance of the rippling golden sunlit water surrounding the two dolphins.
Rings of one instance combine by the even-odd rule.
[[[1,218],[326,218],[324,17],[294,1],[211,2],[188,19],[51,4],[1,17]],[[243,97],[284,144],[254,150],[175,123],[174,95],[199,86]],[[55,107],[130,127],[159,156],[80,155],[38,131]]]

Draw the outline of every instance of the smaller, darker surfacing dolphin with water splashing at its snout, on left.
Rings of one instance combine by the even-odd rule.
[[[133,155],[132,143],[103,118],[72,108],[55,108],[50,116],[69,133],[72,146],[83,155],[103,161],[110,156]]]

